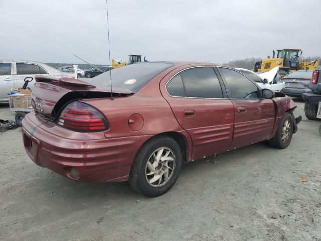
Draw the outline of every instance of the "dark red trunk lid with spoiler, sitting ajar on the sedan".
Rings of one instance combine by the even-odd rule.
[[[111,89],[107,86],[95,86],[74,78],[55,79],[36,75],[32,87],[32,105],[37,114],[54,119],[62,106],[76,99],[108,98]],[[112,89],[113,97],[131,95],[126,89]]]

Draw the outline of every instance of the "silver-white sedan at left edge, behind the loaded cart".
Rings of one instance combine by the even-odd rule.
[[[19,89],[24,85],[26,77],[33,77],[41,74],[54,78],[74,77],[73,73],[63,73],[46,64],[35,61],[0,60],[0,103],[9,102],[8,93],[12,88]],[[32,89],[35,80],[29,83]]]

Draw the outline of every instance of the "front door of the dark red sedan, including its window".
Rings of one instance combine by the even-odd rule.
[[[231,68],[218,69],[234,106],[234,132],[230,149],[267,139],[275,121],[273,100],[262,98],[260,89],[243,74]]]

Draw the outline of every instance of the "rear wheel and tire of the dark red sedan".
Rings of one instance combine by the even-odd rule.
[[[139,193],[149,197],[160,196],[175,184],[182,162],[182,150],[174,139],[155,137],[136,154],[128,182]]]

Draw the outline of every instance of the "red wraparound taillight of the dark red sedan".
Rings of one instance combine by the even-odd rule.
[[[108,129],[106,118],[94,107],[75,101],[61,112],[58,125],[79,132],[98,132]]]

